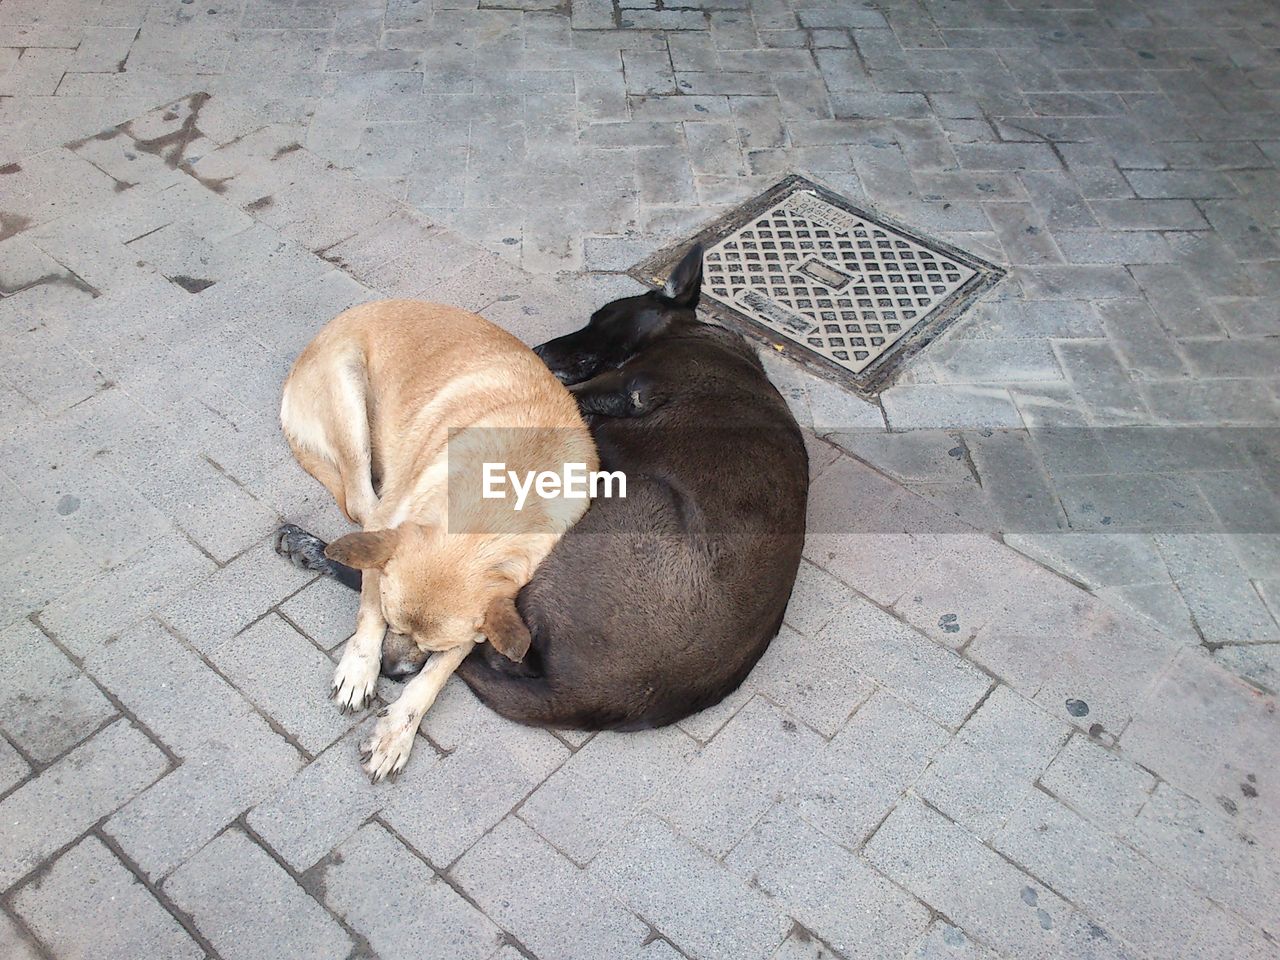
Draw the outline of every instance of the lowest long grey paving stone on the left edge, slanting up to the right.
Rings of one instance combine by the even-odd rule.
[[[46,767],[0,801],[0,840],[8,851],[0,886],[13,886],[168,767],[165,755],[125,719]]]

